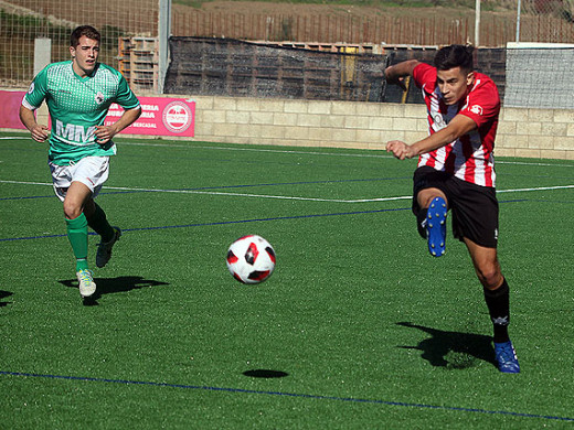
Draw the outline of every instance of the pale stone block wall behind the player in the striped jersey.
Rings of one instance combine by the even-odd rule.
[[[191,98],[196,141],[382,150],[427,136],[424,105]],[[496,154],[574,160],[574,110],[502,108]]]

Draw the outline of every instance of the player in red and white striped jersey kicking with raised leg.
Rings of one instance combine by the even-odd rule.
[[[413,179],[418,232],[431,254],[440,257],[450,211],[454,236],[465,243],[483,288],[498,367],[519,373],[508,334],[509,287],[497,257],[499,208],[492,152],[500,111],[498,89],[492,79],[474,69],[472,47],[464,45],[440,49],[434,66],[410,60],[385,69],[385,79],[403,89],[407,76],[423,92],[429,135],[412,144],[392,140],[386,150],[400,160],[418,157]]]

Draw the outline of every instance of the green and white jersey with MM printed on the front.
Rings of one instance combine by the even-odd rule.
[[[102,126],[109,106],[117,103],[124,109],[139,106],[121,74],[98,63],[92,75],[79,77],[72,62],[47,65],[32,84],[22,105],[36,109],[45,99],[52,121],[49,159],[54,164],[68,165],[84,157],[113,155],[116,146],[96,142],[96,126]]]

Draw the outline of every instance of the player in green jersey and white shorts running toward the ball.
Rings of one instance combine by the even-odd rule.
[[[67,237],[76,258],[79,293],[88,298],[96,283],[87,262],[87,227],[100,235],[96,266],[104,267],[121,230],[109,225],[95,202],[108,178],[109,157],[116,153],[111,138],[141,115],[139,100],[116,69],[98,63],[98,31],[89,25],[71,35],[71,61],[52,63],[42,69],[20,107],[20,119],[32,139],[50,143],[49,166],[56,196],[64,204]],[[34,110],[46,103],[52,129],[36,122]],[[106,126],[109,106],[125,111],[117,122]]]

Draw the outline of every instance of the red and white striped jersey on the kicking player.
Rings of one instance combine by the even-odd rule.
[[[456,115],[472,119],[477,128],[418,159],[418,166],[436,170],[481,186],[495,186],[495,137],[497,135],[500,96],[487,75],[475,72],[475,83],[457,105],[447,106],[437,85],[436,68],[421,63],[413,71],[416,85],[423,90],[429,133],[445,128]]]

